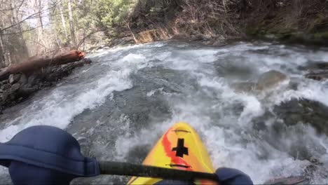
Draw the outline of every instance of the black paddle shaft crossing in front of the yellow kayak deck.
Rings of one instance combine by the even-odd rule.
[[[186,170],[175,170],[165,167],[149,165],[135,165],[132,163],[119,163],[112,161],[99,161],[100,174],[116,174],[136,177],[153,177],[160,179],[174,179],[193,181],[194,179],[210,179],[219,181],[216,174],[205,172],[191,172]]]

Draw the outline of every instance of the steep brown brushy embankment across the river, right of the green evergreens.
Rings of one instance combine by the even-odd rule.
[[[328,1],[139,1],[129,18],[137,43],[166,39],[279,39],[328,45]]]

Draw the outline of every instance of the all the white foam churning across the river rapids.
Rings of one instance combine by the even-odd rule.
[[[235,93],[228,85],[225,78],[213,77],[214,69],[208,69],[212,62],[224,60],[225,57],[238,56],[245,58],[245,63],[261,72],[270,69],[282,69],[285,73],[289,69],[296,70],[298,65],[306,64],[309,60],[328,60],[328,54],[322,51],[303,52],[294,50],[287,46],[275,46],[263,44],[256,46],[251,43],[238,43],[233,46],[223,48],[203,48],[186,50],[184,47],[161,50],[167,43],[153,43],[139,46],[128,46],[125,48],[114,48],[95,53],[92,57],[101,58],[102,66],[108,72],[106,76],[97,78],[95,82],[79,84],[74,86],[74,92],[68,91],[73,85],[61,85],[52,91],[48,97],[44,97],[39,102],[23,110],[25,115],[16,118],[11,123],[7,123],[4,130],[0,130],[0,142],[7,141],[16,132],[31,125],[55,125],[66,128],[74,116],[81,114],[84,109],[93,109],[104,102],[105,98],[114,90],[125,90],[132,87],[130,74],[143,67],[153,67],[163,64],[170,69],[189,71],[191,76],[196,78],[202,90],[191,92],[180,100],[170,99],[170,93],[162,93],[168,97],[172,105],[172,118],[162,123],[153,123],[149,128],[143,128],[135,135],[120,135],[116,140],[114,152],[117,153],[114,160],[125,160],[130,149],[134,146],[154,144],[163,132],[179,121],[190,123],[202,137],[207,150],[210,153],[213,165],[217,167],[235,167],[246,172],[253,179],[255,184],[276,177],[288,177],[301,174],[307,160],[292,158],[288,151],[280,151],[262,137],[268,135],[267,132],[252,132],[252,118],[264,114],[266,106],[280,104],[282,101],[292,98],[307,98],[316,100],[328,106],[327,81],[316,82],[301,79],[298,90],[284,90],[282,87],[274,90],[272,95],[258,96],[245,93]],[[273,48],[273,52],[284,55],[277,57],[275,54],[264,55],[257,53],[257,50],[268,50]],[[283,50],[280,52],[280,50]],[[125,52],[124,56],[121,53]],[[278,54],[279,55],[279,54]],[[108,56],[108,57],[107,57]],[[150,62],[160,60],[160,62]],[[90,72],[86,71],[86,73]],[[82,75],[85,73],[82,73]],[[295,78],[301,78],[301,72],[293,74]],[[77,88],[76,88],[77,87]],[[78,90],[76,90],[78,89]],[[151,90],[147,93],[151,97],[155,93],[165,91],[162,88]],[[69,93],[67,93],[69,92]],[[212,93],[212,94],[211,94]],[[178,96],[179,94],[175,95]],[[212,99],[208,100],[213,95]],[[272,104],[265,104],[273,102]],[[231,105],[241,104],[240,111],[233,112]],[[226,114],[224,111],[231,110]],[[210,111],[212,114],[208,113]],[[123,120],[122,129],[129,130],[130,124]],[[270,121],[266,125],[271,127]],[[298,130],[303,132],[299,135]],[[327,137],[317,135],[315,130],[308,125],[294,125],[277,138],[277,143],[282,143],[287,149],[294,143],[312,141],[324,149],[328,149]],[[104,149],[107,149],[104,147]],[[262,158],[261,156],[266,156]],[[327,153],[321,156],[323,161],[328,161]],[[0,168],[1,170],[1,168]],[[2,171],[0,172],[2,173]],[[324,181],[327,183],[327,181]]]

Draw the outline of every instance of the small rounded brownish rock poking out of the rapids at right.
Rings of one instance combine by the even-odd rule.
[[[282,74],[280,71],[267,71],[259,76],[259,80],[257,81],[257,88],[259,90],[263,90],[265,88],[273,88],[275,85],[278,85],[286,79],[287,76]]]

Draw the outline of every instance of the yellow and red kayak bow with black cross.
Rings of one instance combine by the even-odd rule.
[[[160,137],[142,164],[214,173],[210,156],[196,130],[183,122],[176,123]],[[156,184],[161,180],[149,177],[132,177],[128,184]],[[197,179],[194,183],[217,184],[205,179]]]

